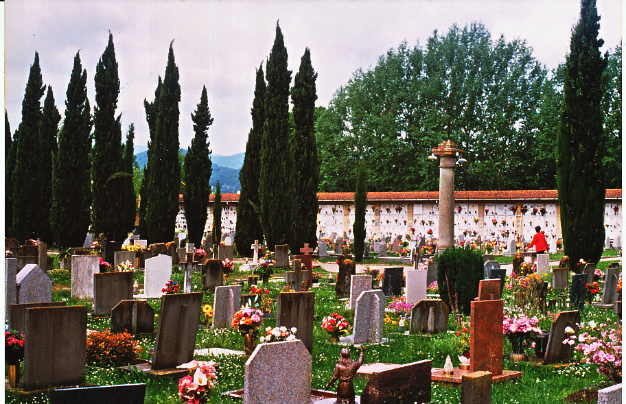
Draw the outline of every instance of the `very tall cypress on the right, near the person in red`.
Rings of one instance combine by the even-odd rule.
[[[597,263],[604,243],[603,71],[604,43],[594,0],[582,0],[566,59],[564,99],[557,132],[557,188],[561,229],[570,268],[579,259]]]

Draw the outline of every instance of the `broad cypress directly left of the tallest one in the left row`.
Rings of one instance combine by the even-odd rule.
[[[76,53],[67,85],[65,119],[52,158],[50,222],[59,246],[82,246],[91,223],[91,113],[87,99],[87,71]]]

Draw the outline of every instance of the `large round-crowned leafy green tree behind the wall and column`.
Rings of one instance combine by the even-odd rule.
[[[401,43],[353,73],[321,111],[321,191],[353,189],[361,157],[373,191],[437,189],[426,158],[448,131],[470,161],[456,189],[535,187],[546,75],[524,41],[492,40],[479,23],[435,31],[424,46]]]

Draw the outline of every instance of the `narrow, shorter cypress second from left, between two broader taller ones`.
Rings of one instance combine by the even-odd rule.
[[[50,201],[52,199],[52,156],[56,153],[56,136],[61,115],[54,104],[52,87],[48,86],[43,113],[39,126],[40,164],[38,182],[40,184],[38,198],[38,236],[43,241],[52,242],[52,228],[50,226]]]

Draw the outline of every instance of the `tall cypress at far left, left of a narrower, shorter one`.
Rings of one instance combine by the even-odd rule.
[[[21,240],[37,237],[40,209],[38,195],[41,192],[38,182],[40,99],[43,97],[44,91],[45,86],[39,67],[39,54],[35,52],[35,60],[30,67],[22,102],[22,121],[18,127],[19,136],[16,136],[15,161],[12,172],[12,226],[14,236]]]

